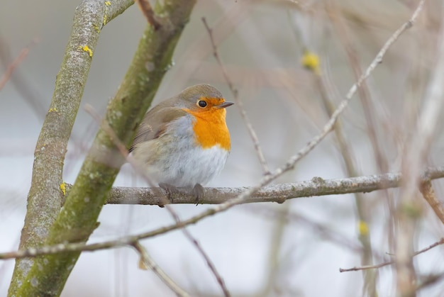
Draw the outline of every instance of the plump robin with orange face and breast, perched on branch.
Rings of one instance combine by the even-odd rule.
[[[145,114],[130,152],[160,187],[189,188],[199,202],[202,185],[221,172],[231,149],[231,105],[213,86],[190,86]]]

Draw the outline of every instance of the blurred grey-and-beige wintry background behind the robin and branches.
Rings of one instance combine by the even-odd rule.
[[[29,49],[0,90],[0,252],[18,247],[35,142],[78,4],[0,2],[0,77],[24,48]],[[154,103],[197,83],[212,84],[233,101],[212,56],[201,21],[205,17],[267,164],[276,169],[321,130],[332,106],[345,97],[356,75],[409,20],[417,4],[410,0],[198,1],[174,52],[174,66]],[[331,133],[275,183],[313,176],[331,179],[399,172],[404,142],[414,127],[434,67],[442,13],[443,1],[426,1],[415,26],[396,41],[350,102],[340,117],[346,150],[340,145],[340,135]],[[145,26],[142,13],[132,6],[101,31],[65,160],[67,183],[74,181],[97,130],[83,107],[89,103],[104,113]],[[318,55],[318,70],[303,67],[301,59],[307,52]],[[221,176],[209,186],[255,185],[262,168],[236,106],[228,108],[227,122],[231,155]],[[443,164],[441,127],[429,165]],[[145,186],[128,165],[115,184]],[[443,182],[434,181],[433,186],[438,197],[442,196]],[[363,259],[367,264],[390,259],[387,253],[394,253],[394,245],[388,201],[396,201],[397,194],[389,190],[298,198],[282,205],[235,206],[190,226],[189,231],[209,254],[233,296],[365,296],[371,292],[365,284],[372,284],[379,296],[392,296],[396,288],[393,267],[368,274],[367,281],[361,271],[340,273],[339,269],[362,266]],[[172,207],[186,219],[208,206]],[[105,206],[99,220],[101,225],[90,242],[174,222],[157,206]],[[362,230],[362,222],[367,230]],[[443,230],[424,203],[415,250],[438,241]],[[182,232],[145,240],[143,245],[192,296],[222,296],[201,254]],[[443,260],[443,247],[421,254],[415,259],[416,273],[420,277],[442,274]],[[12,271],[12,260],[0,262],[0,296],[6,296]],[[131,248],[83,253],[62,292],[65,297],[147,295],[174,293],[152,271],[138,269],[138,255]],[[444,296],[444,282],[427,286],[418,295]]]

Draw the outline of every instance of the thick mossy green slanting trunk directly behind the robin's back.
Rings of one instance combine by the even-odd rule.
[[[97,3],[97,1],[92,2]],[[126,77],[116,96],[109,103],[104,121],[109,123],[118,139],[126,145],[131,142],[137,123],[150,106],[157,86],[169,69],[172,52],[188,21],[194,3],[194,0],[171,0],[163,1],[163,5],[156,6],[155,12],[164,17],[167,22],[158,30],[154,30],[152,26],[148,26],[145,30]],[[105,11],[112,6],[110,1],[105,1],[104,7],[99,6],[96,9]],[[84,14],[85,12],[79,13],[79,18],[82,19]],[[97,21],[89,20],[89,27],[83,28],[83,30],[95,30],[97,26],[100,28],[102,23],[106,23],[106,18],[101,19],[99,24]],[[82,54],[87,53],[86,57],[83,57],[84,59],[90,59],[93,53],[89,44],[85,43],[82,43],[82,47],[77,47],[77,51]],[[84,83],[82,83],[83,85]],[[64,106],[57,106],[54,113],[60,108],[64,108]],[[74,121],[75,113],[70,114],[70,117]],[[66,135],[69,134],[70,131],[67,131]],[[48,209],[41,211],[41,213],[52,213],[52,216],[56,217],[45,240],[45,245],[55,245],[60,242],[85,242],[88,239],[97,226],[96,219],[101,211],[101,206],[106,201],[108,191],[111,189],[122,162],[123,158],[116,153],[109,135],[106,131],[99,130],[62,211],[60,211],[62,191],[58,189],[58,185],[62,182],[61,176],[57,181],[38,183],[52,186],[60,197],[59,208],[52,211],[48,211]],[[57,167],[50,167],[50,169],[46,167],[46,170],[52,172],[55,170],[54,168]],[[16,296],[60,295],[67,276],[78,257],[79,252],[38,258],[25,281],[21,282],[21,286],[15,293]]]

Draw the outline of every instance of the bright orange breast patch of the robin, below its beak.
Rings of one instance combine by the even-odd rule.
[[[224,150],[230,150],[230,132],[226,124],[225,108],[209,111],[184,111],[194,116],[193,130],[196,142],[204,149],[219,145]]]

